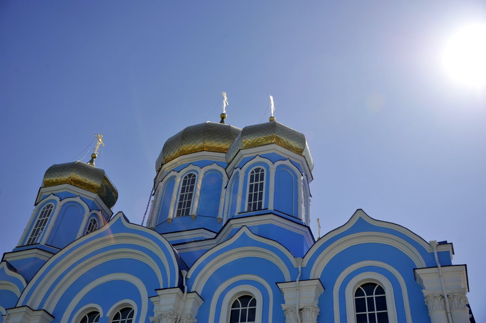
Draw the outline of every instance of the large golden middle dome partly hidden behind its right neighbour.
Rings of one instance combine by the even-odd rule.
[[[226,153],[241,130],[226,123],[210,121],[186,127],[165,142],[156,161],[156,171],[158,172],[163,164],[194,152]]]

